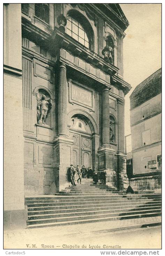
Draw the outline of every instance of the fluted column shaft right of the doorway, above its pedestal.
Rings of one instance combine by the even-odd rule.
[[[103,104],[103,130],[102,130],[102,145],[110,144],[110,108],[109,108],[109,88],[104,87],[102,94]]]

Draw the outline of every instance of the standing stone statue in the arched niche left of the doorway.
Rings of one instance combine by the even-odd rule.
[[[52,101],[45,100],[46,96],[43,94],[41,100],[37,105],[37,123],[46,125],[46,118],[52,108]]]

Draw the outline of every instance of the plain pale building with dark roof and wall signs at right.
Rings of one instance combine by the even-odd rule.
[[[162,69],[138,85],[130,96],[134,190],[161,187]]]

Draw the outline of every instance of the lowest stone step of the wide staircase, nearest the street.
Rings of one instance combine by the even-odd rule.
[[[86,216],[84,216],[85,218],[82,219],[80,217],[80,219],[78,219],[77,217],[74,220],[66,220],[66,221],[56,221],[56,219],[52,218],[52,219],[43,219],[43,220],[29,220],[27,221],[28,223],[28,227],[29,228],[34,228],[34,227],[46,227],[46,226],[51,226],[51,225],[72,225],[72,224],[83,224],[83,223],[88,223],[88,222],[100,222],[100,221],[113,221],[113,220],[123,220],[123,219],[128,219],[128,218],[142,218],[142,217],[154,217],[154,216],[160,216],[161,213],[140,213],[140,214],[127,214],[125,216],[104,216],[104,217],[100,217],[100,216],[90,216],[91,218],[86,218]]]

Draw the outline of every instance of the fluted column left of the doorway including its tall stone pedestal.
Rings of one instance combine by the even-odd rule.
[[[54,138],[54,191],[69,186],[67,170],[72,163],[72,144],[67,134],[67,80],[66,65],[60,62],[58,95],[58,136]]]

